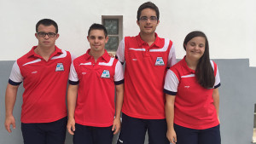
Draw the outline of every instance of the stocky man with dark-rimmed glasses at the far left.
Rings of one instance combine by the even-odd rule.
[[[21,131],[25,144],[63,144],[66,138],[67,79],[72,55],[55,45],[59,37],[54,20],[39,20],[38,45],[15,61],[5,95],[5,129],[15,129],[13,109],[19,85],[24,93]]]

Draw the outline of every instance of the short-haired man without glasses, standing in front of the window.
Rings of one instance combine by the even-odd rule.
[[[105,49],[105,26],[91,25],[87,39],[90,49],[73,60],[70,69],[67,130],[74,144],[111,144],[121,125],[124,70]]]

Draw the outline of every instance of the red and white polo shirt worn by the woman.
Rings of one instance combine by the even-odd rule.
[[[212,91],[220,86],[218,66],[211,60],[215,84],[205,89],[198,84],[195,70],[183,60],[177,62],[166,73],[164,91],[176,95],[174,103],[174,123],[186,128],[204,130],[219,124],[213,105]]]

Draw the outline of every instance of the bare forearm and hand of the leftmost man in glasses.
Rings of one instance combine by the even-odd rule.
[[[5,93],[5,129],[10,133],[10,125],[13,125],[13,128],[16,128],[15,117],[13,116],[13,110],[15,107],[15,101],[17,96],[19,85],[8,84]]]

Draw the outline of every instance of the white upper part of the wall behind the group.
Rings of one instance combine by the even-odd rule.
[[[38,20],[59,25],[57,45],[74,55],[89,48],[86,36],[102,15],[123,15],[124,36],[137,35],[137,8],[144,0],[0,0],[0,60],[16,60],[37,45]],[[160,37],[175,43],[177,58],[184,55],[183,38],[191,31],[207,34],[212,59],[249,59],[256,66],[255,0],[153,0],[160,9]]]

